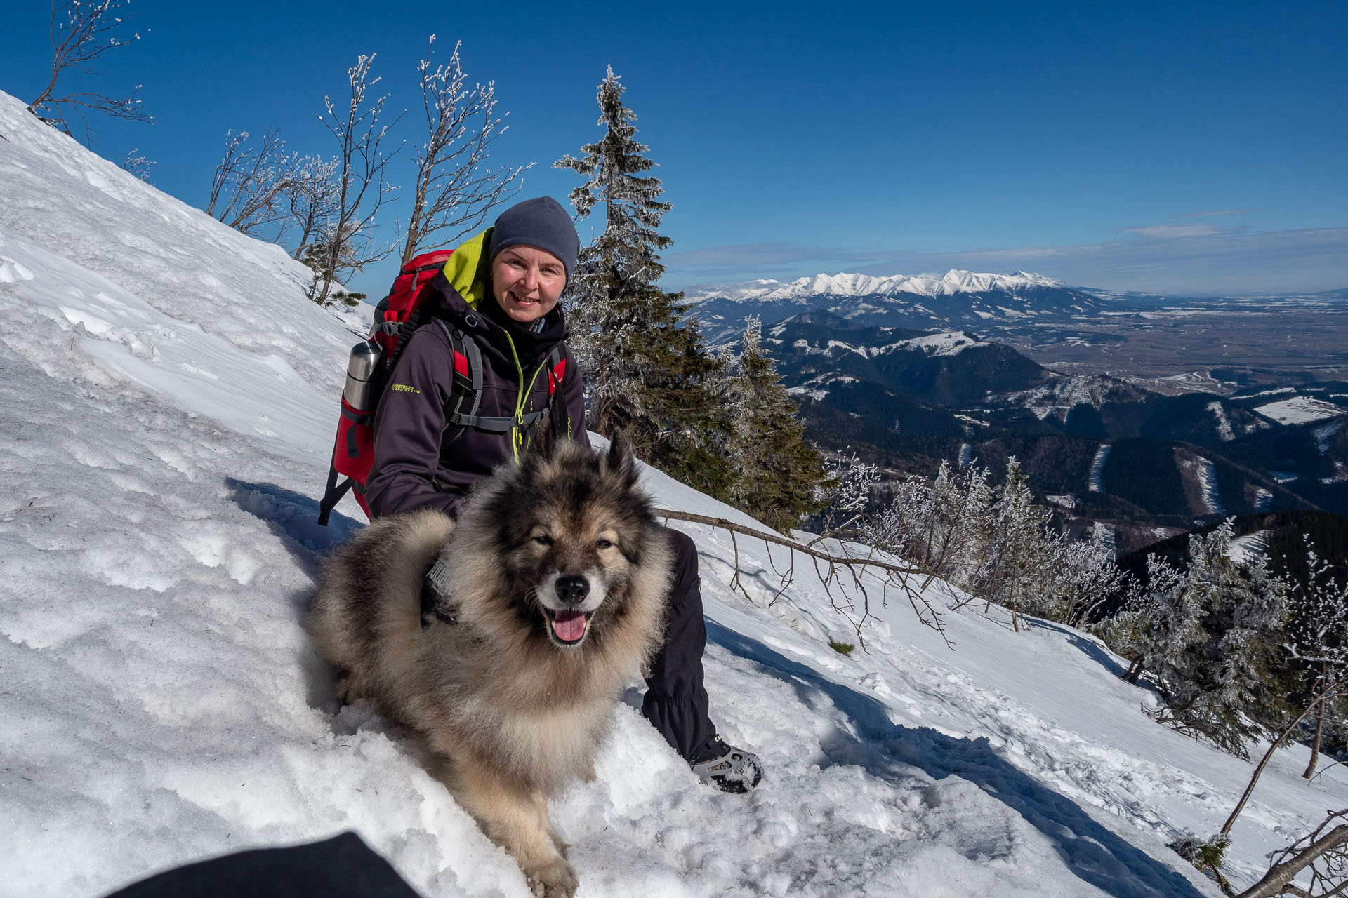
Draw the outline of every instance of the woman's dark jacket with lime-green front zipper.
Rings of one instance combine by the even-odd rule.
[[[443,275],[426,289],[430,295],[422,303],[431,303],[427,311],[462,330],[481,350],[479,416],[514,417],[547,408],[549,419],[535,427],[551,427],[558,438],[589,446],[584,385],[563,342],[561,307],[545,316],[542,331],[535,334],[510,320],[492,296],[483,299],[484,311],[470,308]],[[562,349],[561,370],[550,372],[549,354],[555,346]],[[417,329],[398,357],[375,415],[375,463],[365,481],[365,502],[373,517],[427,506],[453,516],[473,483],[515,459],[512,440],[527,440],[523,432],[476,428],[442,440],[448,436],[445,404],[453,389],[453,366],[449,335],[435,322]],[[550,390],[558,373],[561,384]]]

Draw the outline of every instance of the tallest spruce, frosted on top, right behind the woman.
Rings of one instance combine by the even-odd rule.
[[[658,178],[642,175],[655,163],[636,140],[623,90],[611,66],[597,97],[604,136],[554,163],[586,179],[570,193],[577,219],[604,203],[604,229],[581,249],[563,296],[572,349],[589,378],[590,425],[605,436],[623,428],[647,462],[725,498],[733,474],[717,451],[716,401],[724,372],[685,318],[683,295],[656,283],[670,245],[656,229],[671,203],[659,199]]]

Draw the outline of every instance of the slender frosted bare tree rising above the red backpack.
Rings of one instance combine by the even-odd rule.
[[[318,114],[318,121],[337,141],[336,213],[324,229],[321,257],[310,265],[318,275],[310,299],[319,306],[330,300],[333,284],[394,252],[394,244],[384,244],[375,236],[373,223],[398,190],[388,183],[387,170],[402,144],[388,153],[383,144],[402,116],[384,121],[387,94],[369,94],[379,83],[377,77],[369,75],[373,63],[375,54],[357,57],[356,65],[346,70],[345,100],[324,97],[325,112]]]

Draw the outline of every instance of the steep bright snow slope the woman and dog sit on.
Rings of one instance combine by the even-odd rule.
[[[96,897],[240,848],[357,831],[422,894],[523,876],[357,704],[301,629],[349,333],[305,269],[142,184],[0,94],[0,895]],[[644,473],[666,508],[743,514]],[[553,806],[580,895],[1217,895],[1165,843],[1220,827],[1251,765],[1150,722],[1080,633],[981,606],[872,605],[868,650],[811,568],[689,526],[713,718],[751,796],[701,786],[617,708]],[[929,598],[949,602],[941,583]],[[879,599],[879,594],[875,594]],[[1279,754],[1229,872],[1348,805]]]

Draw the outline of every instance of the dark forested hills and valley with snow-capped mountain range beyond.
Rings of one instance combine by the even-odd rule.
[[[1348,514],[1348,291],[821,275],[704,291],[689,307],[721,343],[760,319],[826,454],[895,481],[946,463],[996,482],[1014,456],[1060,525],[1103,528],[1119,555],[1227,516]]]

